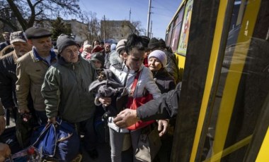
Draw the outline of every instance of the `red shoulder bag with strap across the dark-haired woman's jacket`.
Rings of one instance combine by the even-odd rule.
[[[135,76],[135,80],[132,83],[131,96],[128,97],[128,101],[126,104],[126,107],[130,108],[132,110],[136,110],[139,106],[142,106],[142,105],[146,104],[148,101],[150,101],[151,99],[153,99],[152,94],[149,94],[147,89],[146,89],[146,93],[144,94],[144,96],[136,97],[136,98],[132,97],[133,92],[135,92],[135,87],[137,87],[137,82],[138,82],[140,72],[141,71],[137,72],[137,75]],[[147,122],[138,121],[137,123],[131,125],[130,127],[127,127],[127,129],[128,130],[137,130],[141,127],[145,127],[145,126],[150,125],[151,123],[154,123],[154,122],[155,122],[155,120],[149,120]]]

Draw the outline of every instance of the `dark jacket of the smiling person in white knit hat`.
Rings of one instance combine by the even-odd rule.
[[[173,77],[167,72],[166,68],[161,68],[158,71],[152,71],[156,85],[161,90],[161,94],[176,88],[176,83]]]

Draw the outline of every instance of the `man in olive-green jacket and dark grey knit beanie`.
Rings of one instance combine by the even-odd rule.
[[[67,35],[57,39],[58,62],[45,75],[42,96],[45,98],[47,118],[55,123],[60,117],[85,131],[84,146],[91,158],[97,158],[93,129],[96,111],[94,97],[88,92],[91,82],[96,80],[93,64],[79,55],[79,47]]]

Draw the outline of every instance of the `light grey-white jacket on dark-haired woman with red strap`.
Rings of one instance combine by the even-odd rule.
[[[110,70],[118,76],[120,81],[122,82],[123,85],[125,85],[125,77],[127,77],[126,81],[126,89],[128,91],[128,94],[131,94],[132,91],[132,83],[135,80],[135,76],[137,73],[135,70],[130,70],[127,68],[125,64],[123,64],[121,67],[120,66],[110,66]],[[129,74],[128,74],[129,71]],[[141,97],[144,95],[144,90],[147,89],[147,91],[152,94],[154,99],[157,99],[161,95],[161,91],[157,87],[152,73],[149,70],[149,68],[145,67],[143,64],[139,68],[140,76],[139,80],[137,82],[137,87],[135,87],[135,91],[133,92],[132,96],[134,98],[136,97]],[[128,75],[127,75],[128,74]],[[112,128],[113,130],[116,130],[118,132],[129,132],[127,129],[120,129],[115,123],[113,123],[113,118],[108,119],[108,127]]]

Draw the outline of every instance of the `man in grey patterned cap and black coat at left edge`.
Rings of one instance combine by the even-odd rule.
[[[14,118],[16,119],[18,108],[16,99],[16,61],[32,48],[27,43],[26,36],[22,31],[12,32],[10,42],[14,51],[11,51],[0,59],[0,99],[4,108],[6,108],[7,123],[9,123],[9,111],[13,111]],[[0,114],[0,120],[3,115]]]

